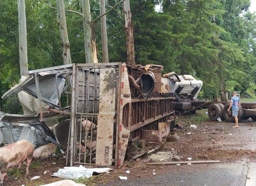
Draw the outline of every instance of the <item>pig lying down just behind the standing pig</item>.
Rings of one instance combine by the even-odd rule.
[[[33,158],[43,159],[53,155],[57,150],[57,146],[53,143],[49,143],[34,150]]]

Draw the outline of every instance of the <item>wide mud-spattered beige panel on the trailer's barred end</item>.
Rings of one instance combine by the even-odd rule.
[[[97,124],[96,165],[111,166],[115,123],[115,68],[101,69],[100,105]]]

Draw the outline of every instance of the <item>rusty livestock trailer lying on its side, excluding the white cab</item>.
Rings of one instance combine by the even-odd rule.
[[[162,70],[123,62],[50,67],[28,71],[2,97],[24,91],[39,100],[40,121],[67,117],[53,130],[67,149],[70,166],[120,167],[129,141],[143,147],[149,140],[161,140],[174,124],[175,90],[169,85],[175,78],[162,77]],[[61,105],[64,93],[68,106]]]

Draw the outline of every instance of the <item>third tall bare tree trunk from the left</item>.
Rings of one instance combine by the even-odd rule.
[[[92,45],[92,26],[91,26],[91,10],[89,0],[82,0],[83,9],[83,26],[84,26],[84,47],[86,63],[93,63],[93,45]]]

